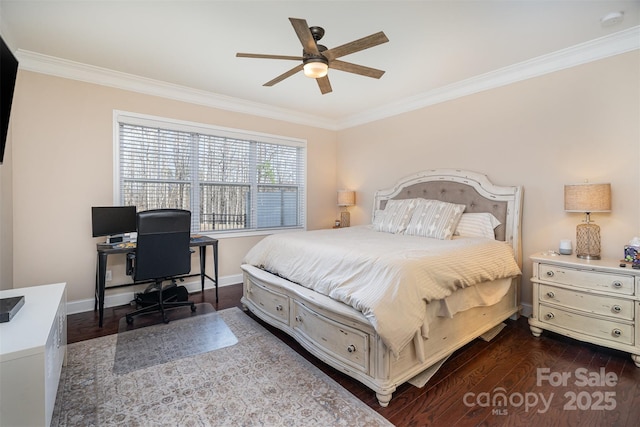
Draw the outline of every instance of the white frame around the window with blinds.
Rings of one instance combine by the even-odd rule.
[[[301,224],[299,226],[290,227],[273,227],[273,228],[255,228],[257,223],[254,224],[254,228],[251,229],[234,229],[234,230],[206,230],[199,231],[198,234],[202,235],[215,235],[216,238],[224,237],[245,237],[245,236],[262,236],[267,234],[274,234],[280,232],[287,232],[293,230],[306,230],[307,229],[307,141],[305,139],[292,138],[281,135],[273,135],[261,132],[254,132],[242,129],[228,128],[215,126],[204,123],[197,123],[185,120],[171,119],[166,117],[153,116],[148,114],[133,113],[122,110],[113,110],[113,204],[118,206],[120,202],[120,123],[126,123],[131,125],[140,125],[148,127],[162,127],[171,129],[173,131],[181,132],[193,132],[205,135],[213,135],[216,137],[228,137],[233,139],[241,139],[248,141],[255,141],[259,143],[276,144],[292,146],[303,149],[303,156],[301,161],[301,168],[303,169],[303,183],[300,188],[303,191],[303,196],[300,199],[299,208],[302,210],[300,215]],[[193,178],[193,177],[192,177]],[[251,181],[255,181],[252,178]],[[193,182],[193,179],[192,179]],[[252,184],[252,188],[258,187],[263,184]],[[192,191],[196,187],[192,186]],[[247,215],[252,215],[252,206],[248,206],[249,212]],[[199,215],[199,212],[198,212]]]

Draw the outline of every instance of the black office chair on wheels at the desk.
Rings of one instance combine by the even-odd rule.
[[[172,280],[191,271],[191,249],[189,238],[191,231],[191,212],[181,209],[156,209],[143,211],[137,215],[138,240],[135,253],[127,260],[128,273],[134,281],[154,280],[145,292],[157,291],[158,301],[126,315],[127,323],[133,323],[133,316],[152,311],[160,311],[165,323],[169,323],[166,308],[191,306],[190,301],[169,301],[163,297],[162,282]],[[172,280],[171,286],[175,285]]]

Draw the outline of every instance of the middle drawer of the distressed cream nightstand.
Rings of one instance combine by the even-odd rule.
[[[632,321],[635,317],[632,300],[587,294],[571,289],[556,288],[555,286],[542,284],[539,289],[540,302],[558,304],[578,311],[596,313],[629,321]]]

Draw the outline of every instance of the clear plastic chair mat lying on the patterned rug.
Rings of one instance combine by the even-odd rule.
[[[238,339],[211,304],[198,304],[194,314],[205,311],[206,314],[174,320],[169,325],[119,331],[113,373],[128,374],[236,344]],[[126,321],[122,319],[120,323]]]

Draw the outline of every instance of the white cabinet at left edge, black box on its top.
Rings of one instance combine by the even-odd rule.
[[[48,426],[66,357],[66,285],[0,291],[20,295],[22,308],[0,323],[0,425]]]

